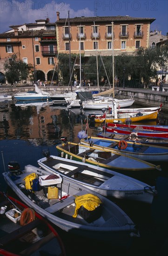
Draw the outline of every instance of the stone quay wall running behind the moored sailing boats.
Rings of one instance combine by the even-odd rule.
[[[83,89],[90,89],[90,90],[98,90],[95,86],[93,87],[83,87]],[[41,90],[49,92],[49,93],[64,93],[70,92],[71,88],[67,86],[46,86],[40,87]],[[75,88],[73,87],[72,90]],[[104,91],[108,88],[101,87],[100,90]],[[28,92],[33,91],[34,86],[0,86],[0,94],[9,94],[14,95],[16,93],[21,92]],[[164,112],[168,111],[168,91],[160,92],[160,91],[153,91],[150,89],[142,89],[142,88],[115,88],[116,91],[116,98],[117,97],[130,97],[134,95],[135,103],[138,105],[142,105],[144,107],[155,107],[162,104],[161,110]]]

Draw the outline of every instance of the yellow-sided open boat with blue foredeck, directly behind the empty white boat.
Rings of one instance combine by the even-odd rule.
[[[67,142],[57,145],[56,148],[64,157],[69,157],[79,162],[86,162],[99,167],[114,170],[123,174],[133,175],[134,172],[144,173],[147,170],[160,170],[160,166],[125,156],[122,152],[112,152],[108,149],[96,148],[94,145]]]

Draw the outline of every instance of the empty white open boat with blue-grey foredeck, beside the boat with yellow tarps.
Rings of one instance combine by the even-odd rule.
[[[74,181],[101,195],[117,199],[152,203],[155,187],[112,170],[94,167],[91,164],[50,156],[38,160],[41,168],[60,174],[64,179]]]

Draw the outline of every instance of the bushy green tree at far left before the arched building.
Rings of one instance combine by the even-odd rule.
[[[15,82],[21,80],[27,80],[27,77],[33,71],[33,66],[18,60],[17,54],[13,54],[10,58],[6,58],[4,69],[7,81],[15,84]]]

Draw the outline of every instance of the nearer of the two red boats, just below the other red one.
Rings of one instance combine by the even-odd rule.
[[[103,126],[104,128],[104,126]],[[154,130],[145,130],[145,129],[134,129],[130,127],[106,127],[106,132],[110,133],[118,133],[118,134],[125,134],[125,135],[134,135],[135,137],[138,136],[146,136],[146,137],[154,137],[154,138],[168,138],[168,132],[161,132],[161,131],[154,131]]]

